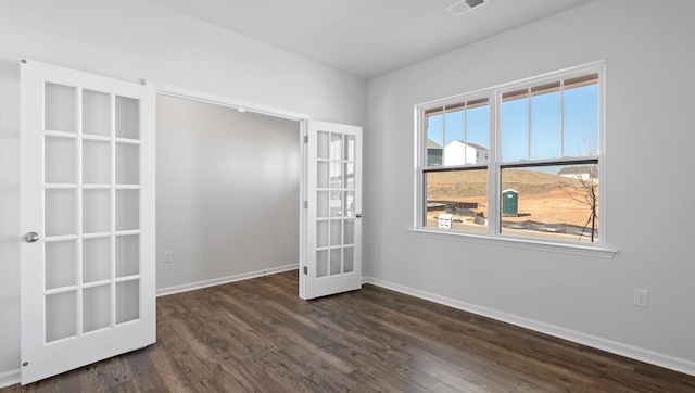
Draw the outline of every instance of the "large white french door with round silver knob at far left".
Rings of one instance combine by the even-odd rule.
[[[154,90],[21,72],[26,384],[155,341]]]

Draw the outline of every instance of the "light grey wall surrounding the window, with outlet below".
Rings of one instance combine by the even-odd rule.
[[[695,375],[693,15],[693,1],[592,1],[370,80],[365,276]],[[597,60],[612,259],[408,230],[414,105]],[[649,290],[649,308],[633,306],[635,288]]]

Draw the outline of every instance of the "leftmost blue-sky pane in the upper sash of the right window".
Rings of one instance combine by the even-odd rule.
[[[529,159],[529,98],[525,91],[502,96],[502,161]]]

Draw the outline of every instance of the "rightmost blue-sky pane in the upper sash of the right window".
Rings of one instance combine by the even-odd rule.
[[[598,154],[598,92],[597,83],[565,90],[565,156]]]

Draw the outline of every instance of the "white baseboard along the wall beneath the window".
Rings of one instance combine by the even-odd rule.
[[[668,369],[683,372],[690,376],[695,376],[695,362],[692,362],[692,360],[623,344],[612,340],[606,340],[596,335],[584,334],[579,331],[560,328],[554,325],[544,324],[538,320],[520,317],[513,314],[502,313],[502,312],[486,308],[486,307],[477,306],[475,304],[469,304],[469,303],[460,302],[454,299],[440,296],[433,293],[419,291],[413,288],[400,286],[400,284],[380,280],[377,278],[365,277],[363,281],[365,283],[370,283],[372,286],[386,288],[392,291],[401,292],[401,293],[424,299],[430,302],[443,304],[450,307],[458,308],[458,309],[477,314],[483,317],[516,325],[526,329],[549,334],[559,339],[572,341],[572,342],[591,346],[597,350],[610,352],[620,356],[626,356],[635,360],[668,368]]]

